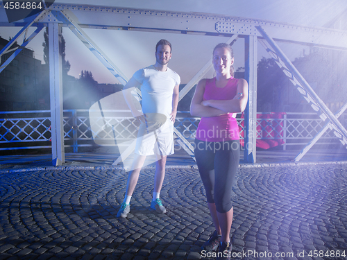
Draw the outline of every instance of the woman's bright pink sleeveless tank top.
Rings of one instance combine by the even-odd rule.
[[[216,87],[216,78],[206,79],[203,100],[230,100],[234,98],[238,81],[237,78],[230,78],[226,87]],[[196,139],[201,141],[239,140],[239,125],[232,117],[232,113],[201,117],[196,130]]]

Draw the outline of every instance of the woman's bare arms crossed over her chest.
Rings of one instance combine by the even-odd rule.
[[[230,100],[208,100],[203,101],[206,79],[200,80],[196,86],[195,94],[190,105],[192,116],[210,117],[226,113],[243,112],[248,101],[248,83],[243,78],[237,83],[237,95]]]

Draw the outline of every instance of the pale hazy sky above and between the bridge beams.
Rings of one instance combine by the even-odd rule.
[[[66,3],[57,1],[56,3]],[[69,4],[113,6],[119,8],[144,8],[152,10],[178,12],[205,12],[210,14],[265,19],[287,24],[323,27],[336,15],[347,10],[346,0],[72,0]],[[14,37],[20,28],[0,27],[0,36],[7,39]],[[43,31],[28,44],[35,51],[35,58],[43,62]],[[117,67],[130,78],[137,69],[155,63],[155,43],[164,38],[173,46],[169,67],[181,76],[181,83],[187,83],[195,73],[210,60],[212,49],[219,42],[226,42],[226,37],[201,35],[181,35],[174,33],[149,33],[134,31],[111,31],[84,29],[94,42],[115,62]],[[71,64],[69,75],[78,78],[82,70],[91,71],[99,83],[118,83],[115,76],[103,67],[94,55],[87,50],[77,37],[63,28],[66,41],[66,59]],[[20,43],[20,41],[19,41]],[[309,49],[297,44],[279,44],[287,56],[294,60],[304,55]],[[237,40],[233,46],[235,69],[244,67],[244,42]],[[269,58],[259,46],[258,59]],[[209,71],[207,76],[212,76]]]

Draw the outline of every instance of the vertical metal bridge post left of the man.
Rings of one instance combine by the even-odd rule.
[[[49,23],[49,89],[51,96],[51,132],[53,166],[65,163],[64,124],[62,121],[62,58],[59,52],[62,27]]]

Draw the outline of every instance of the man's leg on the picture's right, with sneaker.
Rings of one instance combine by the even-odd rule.
[[[154,175],[154,190],[153,200],[151,202],[151,208],[155,209],[158,213],[166,213],[167,210],[162,205],[160,198],[160,191],[162,189],[162,183],[165,177],[165,165],[167,164],[167,156],[156,155],[156,168]]]

